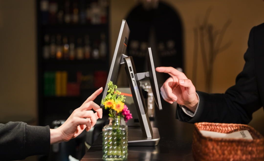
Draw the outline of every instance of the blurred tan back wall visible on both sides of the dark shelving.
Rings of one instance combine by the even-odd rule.
[[[212,7],[209,21],[216,28],[231,19],[223,42],[232,45],[216,57],[213,71],[212,92],[224,92],[234,85],[235,77],[242,71],[243,55],[247,49],[249,31],[263,23],[264,2],[239,0],[164,0],[180,15],[183,24],[185,74],[192,79],[192,61],[196,18],[203,18],[206,9]],[[110,57],[114,47],[121,19],[125,18],[138,1],[110,1]],[[31,115],[37,117],[36,96],[36,6],[34,0],[0,0],[0,117],[8,115]],[[173,20],[172,20],[173,21]],[[198,58],[197,90],[204,91],[204,72],[201,58]],[[263,118],[259,110],[254,120]],[[257,115],[259,117],[257,117]],[[253,121],[254,121],[253,120]]]

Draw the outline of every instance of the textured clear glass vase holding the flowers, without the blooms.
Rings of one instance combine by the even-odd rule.
[[[109,118],[103,127],[103,159],[126,160],[128,157],[128,126],[120,118]]]

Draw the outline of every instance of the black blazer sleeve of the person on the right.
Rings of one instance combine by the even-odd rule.
[[[243,71],[237,76],[235,85],[224,94],[197,91],[200,103],[196,115],[190,117],[177,107],[176,118],[188,123],[249,123],[252,113],[262,106],[256,81],[254,28],[250,31],[248,49],[244,54],[246,63]]]

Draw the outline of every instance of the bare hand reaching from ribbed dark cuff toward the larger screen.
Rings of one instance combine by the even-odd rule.
[[[93,100],[102,92],[101,87],[95,91],[81,107],[75,109],[70,117],[57,129],[50,129],[50,144],[67,142],[77,137],[84,129],[89,131],[96,123],[98,118],[102,118],[103,111]],[[93,113],[91,110],[95,110]]]

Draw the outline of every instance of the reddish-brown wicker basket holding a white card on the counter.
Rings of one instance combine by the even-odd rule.
[[[264,138],[243,124],[195,123],[192,153],[195,160],[264,160]],[[199,130],[232,133],[248,130],[253,140],[202,136]]]

